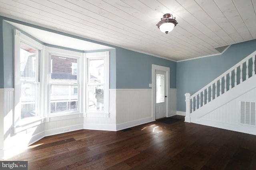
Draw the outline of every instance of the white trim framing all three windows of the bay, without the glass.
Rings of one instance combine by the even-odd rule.
[[[104,52],[96,52],[96,53],[80,53],[76,51],[64,50],[54,47],[44,46],[41,43],[35,41],[34,39],[24,35],[18,30],[14,30],[14,55],[20,56],[20,42],[24,42],[27,45],[35,47],[40,50],[40,87],[39,87],[39,101],[40,105],[38,108],[39,115],[36,117],[30,117],[27,119],[22,119],[20,121],[20,113],[17,110],[20,109],[20,97],[17,94],[20,93],[20,90],[17,87],[17,83],[19,82],[19,77],[15,75],[20,75],[20,70],[16,69],[14,66],[14,129],[26,129],[26,127],[30,127],[34,125],[35,122],[40,121],[40,123],[48,122],[48,121],[58,121],[64,119],[72,119],[77,117],[109,117],[109,51]],[[19,47],[19,48],[15,48]],[[64,113],[64,114],[55,114],[50,115],[49,107],[50,105],[50,94],[49,94],[49,74],[51,70],[51,61],[49,60],[49,53],[55,55],[64,55],[68,57],[78,58],[79,62],[77,65],[78,72],[78,111],[75,113]],[[20,57],[19,57],[20,58]],[[87,59],[88,58],[104,58],[104,74],[105,74],[105,89],[104,90],[104,112],[103,111],[93,111],[86,112],[86,83],[87,83]],[[20,64],[19,60],[14,60],[14,64]],[[86,67],[85,67],[86,66]],[[20,68],[20,67],[18,67]],[[81,73],[81,74],[80,74]]]

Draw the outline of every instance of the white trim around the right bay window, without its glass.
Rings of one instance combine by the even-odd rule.
[[[104,52],[96,52],[96,53],[86,53],[86,78],[85,78],[85,86],[84,86],[84,94],[85,96],[85,102],[84,104],[87,106],[87,99],[88,99],[88,93],[87,93],[87,82],[89,80],[88,78],[88,59],[91,58],[104,58],[104,77],[105,77],[105,84],[104,84],[104,111],[88,111],[87,107],[85,109],[84,117],[109,117],[109,51]]]

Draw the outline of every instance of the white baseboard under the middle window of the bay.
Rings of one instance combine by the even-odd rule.
[[[44,136],[51,136],[51,135],[57,135],[60,133],[66,133],[66,132],[71,132],[71,131],[77,131],[84,129],[84,124],[80,125],[72,125],[72,126],[66,126],[66,127],[61,127],[61,128],[56,128],[56,129],[50,129],[47,131],[44,131]]]

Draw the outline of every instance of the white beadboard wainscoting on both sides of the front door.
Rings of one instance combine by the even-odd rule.
[[[177,114],[176,88],[170,89],[168,117]],[[116,90],[116,130],[155,121],[152,117],[152,89]]]

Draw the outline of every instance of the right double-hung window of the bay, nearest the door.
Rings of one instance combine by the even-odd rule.
[[[107,117],[109,111],[109,52],[86,53],[86,59],[86,113],[106,114],[105,117]]]

